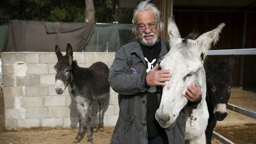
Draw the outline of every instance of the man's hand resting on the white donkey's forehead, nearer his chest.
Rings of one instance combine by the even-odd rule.
[[[146,76],[148,86],[164,86],[166,85],[164,82],[171,79],[170,70],[158,70],[158,67],[159,65],[156,64],[156,66],[148,72]]]

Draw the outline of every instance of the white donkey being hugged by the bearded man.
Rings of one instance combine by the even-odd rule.
[[[201,87],[202,101],[196,109],[185,107],[186,140],[189,140],[189,143],[206,143],[205,129],[209,114],[205,101],[207,87],[203,62],[211,43],[215,44],[218,41],[223,27],[224,23],[221,23],[217,28],[203,33],[196,40],[190,40],[181,38],[173,17],[169,19],[168,33],[171,49],[164,56],[160,66],[163,70],[171,70],[173,77],[163,87],[160,107],[155,116],[161,127],[170,127],[187,104],[188,100],[184,96],[186,87],[197,83]]]

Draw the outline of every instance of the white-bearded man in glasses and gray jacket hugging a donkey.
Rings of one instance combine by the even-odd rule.
[[[109,83],[119,93],[120,108],[111,144],[184,143],[184,111],[168,129],[160,127],[155,119],[164,82],[171,80],[170,71],[158,67],[169,51],[168,44],[159,36],[163,29],[160,11],[148,1],[140,2],[132,22],[137,41],[116,52],[109,72]],[[190,104],[197,106],[201,98],[200,87],[187,87],[186,97]]]

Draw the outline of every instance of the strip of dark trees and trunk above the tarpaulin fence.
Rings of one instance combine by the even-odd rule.
[[[0,19],[130,23],[133,9],[120,8],[119,3],[120,0],[1,0]]]

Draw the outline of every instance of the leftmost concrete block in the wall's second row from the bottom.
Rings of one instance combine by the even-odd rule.
[[[25,119],[25,109],[5,109],[6,119]]]

